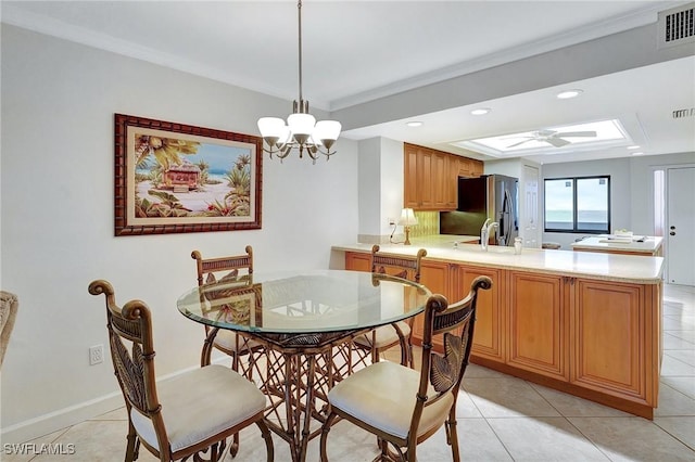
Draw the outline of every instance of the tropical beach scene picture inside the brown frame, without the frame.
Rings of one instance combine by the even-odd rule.
[[[253,146],[146,128],[129,131],[134,222],[252,218]]]

